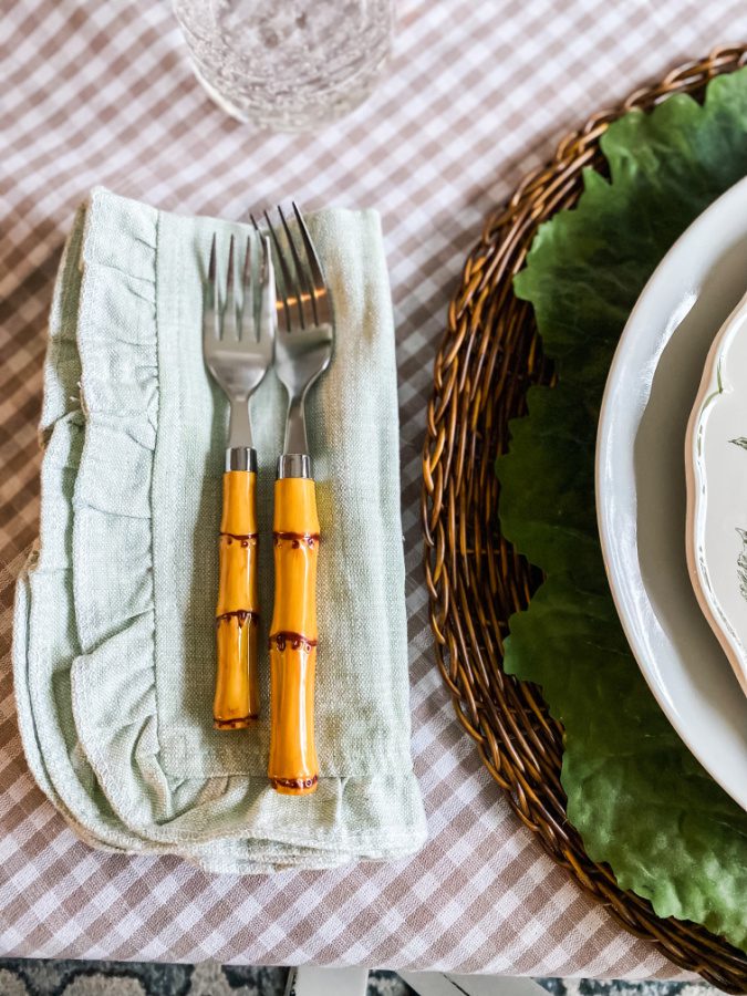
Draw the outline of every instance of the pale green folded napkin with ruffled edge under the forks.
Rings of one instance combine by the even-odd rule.
[[[93,191],[58,276],[44,369],[40,541],[18,583],[14,683],[29,765],[95,847],[211,871],[329,868],[416,851],[396,370],[378,216],[310,218],[332,288],[335,356],[308,423],[319,559],[319,789],[267,781],[262,719],[212,729],[227,403],[201,356],[214,230]],[[272,485],[284,396],[252,398],[260,645],[272,605]]]

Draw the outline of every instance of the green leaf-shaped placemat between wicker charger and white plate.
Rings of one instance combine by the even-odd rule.
[[[602,137],[572,210],[539,229],[516,293],[533,305],[556,387],[531,387],[497,461],[500,520],[546,580],[511,616],[505,667],[537,682],[564,726],[568,816],[595,861],[661,916],[747,951],[747,813],[698,765],[633,658],[594,509],[596,421],[612,354],[654,268],[747,174],[747,70],[633,111]],[[746,274],[747,283],[747,274]],[[684,541],[684,540],[683,540]]]

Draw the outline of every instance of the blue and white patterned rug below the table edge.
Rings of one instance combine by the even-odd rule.
[[[52,962],[0,958],[0,996],[284,996],[287,968],[203,962]],[[537,979],[550,996],[715,996],[705,983]],[[394,972],[372,972],[369,996],[415,996]]]

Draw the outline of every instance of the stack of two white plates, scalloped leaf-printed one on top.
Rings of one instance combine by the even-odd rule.
[[[746,289],[743,180],[641,294],[610,370],[596,450],[600,536],[627,641],[672,725],[743,809]]]

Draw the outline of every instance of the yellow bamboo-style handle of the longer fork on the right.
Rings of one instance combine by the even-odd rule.
[[[317,790],[314,674],[319,519],[313,480],[274,484],[274,610],[270,626],[270,762],[277,791]]]

